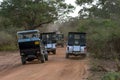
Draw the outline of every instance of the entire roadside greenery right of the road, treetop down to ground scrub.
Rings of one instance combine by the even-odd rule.
[[[94,75],[88,79],[120,80],[120,1],[76,0],[76,3],[83,6],[78,31],[88,34],[88,51],[92,57],[90,71]]]

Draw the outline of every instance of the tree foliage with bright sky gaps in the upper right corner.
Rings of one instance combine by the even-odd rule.
[[[81,17],[120,18],[120,0],[76,0],[76,4],[83,7],[79,12]]]

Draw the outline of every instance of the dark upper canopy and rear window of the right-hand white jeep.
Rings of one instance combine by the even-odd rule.
[[[70,33],[68,35],[68,45],[85,46],[86,45],[85,33]]]

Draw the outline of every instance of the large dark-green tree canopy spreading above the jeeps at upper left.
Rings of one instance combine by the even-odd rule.
[[[25,29],[34,29],[57,20],[73,10],[64,0],[4,0],[0,5],[0,16],[11,24]]]

